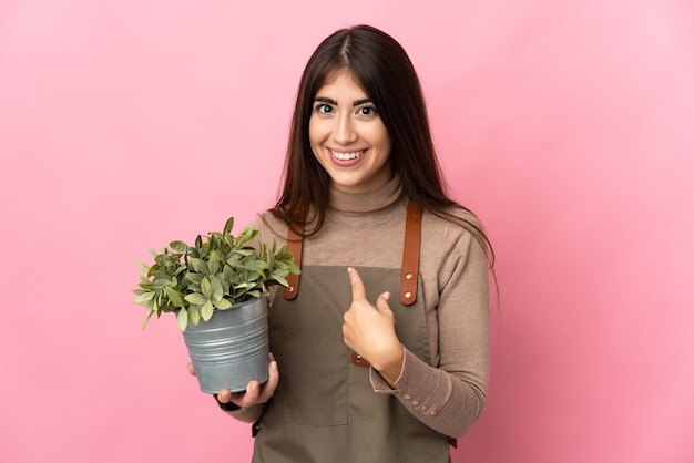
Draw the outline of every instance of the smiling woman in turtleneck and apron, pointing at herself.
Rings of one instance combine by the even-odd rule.
[[[269,310],[269,380],[220,405],[255,422],[254,462],[448,462],[479,419],[491,248],[450,199],[415,69],[367,25],[302,76],[282,194],[254,220],[300,259]],[[276,360],[276,361],[275,361]]]

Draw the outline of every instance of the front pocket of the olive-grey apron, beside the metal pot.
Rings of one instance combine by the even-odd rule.
[[[348,349],[343,331],[285,329],[280,342],[279,384],[285,421],[323,426],[347,424]]]

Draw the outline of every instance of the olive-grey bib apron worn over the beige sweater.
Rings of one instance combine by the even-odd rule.
[[[400,292],[400,269],[359,268],[374,303]],[[418,285],[421,291],[421,286]],[[391,297],[398,338],[431,363],[423,298]],[[346,267],[303,266],[300,291],[277,291],[269,310],[269,347],[279,383],[257,423],[254,463],[443,463],[449,439],[417,420],[391,394],[376,393],[368,363],[347,348],[343,315],[351,303]]]

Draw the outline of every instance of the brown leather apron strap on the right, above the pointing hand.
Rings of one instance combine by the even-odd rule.
[[[419,275],[419,241],[421,238],[421,206],[407,204],[405,245],[402,246],[402,276],[400,277],[400,303],[411,306],[417,300]]]

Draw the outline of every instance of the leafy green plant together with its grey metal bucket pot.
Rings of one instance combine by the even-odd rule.
[[[269,289],[287,288],[287,276],[300,271],[286,246],[253,246],[258,230],[234,236],[233,226],[229,217],[222,233],[198,235],[193,246],[172,241],[151,249],[154,264],[140,263],[133,291],[133,302],[146,308],[142,329],[153,315],[176,313],[201,390],[208,393],[267,381]]]

